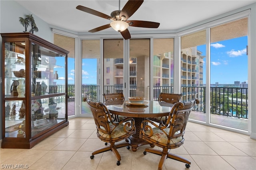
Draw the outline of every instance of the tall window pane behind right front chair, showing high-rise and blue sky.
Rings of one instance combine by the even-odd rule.
[[[180,81],[182,101],[198,99],[199,105],[194,107],[190,119],[206,122],[205,83],[206,67],[204,65],[206,51],[206,30],[194,32],[181,37]]]

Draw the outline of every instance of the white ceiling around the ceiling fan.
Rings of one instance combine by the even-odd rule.
[[[120,10],[127,1],[120,1]],[[48,24],[73,32],[88,32],[110,23],[110,20],[77,10],[78,5],[109,16],[112,11],[119,10],[118,0],[16,0],[16,2]],[[254,2],[256,0],[144,0],[129,20],[159,22],[159,28],[129,27],[128,30],[130,32],[177,30]],[[104,30],[104,32],[109,31],[113,32],[113,29]]]

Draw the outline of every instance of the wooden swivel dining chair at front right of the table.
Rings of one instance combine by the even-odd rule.
[[[195,99],[188,102],[175,103],[163,127],[156,125],[156,123],[150,120],[142,121],[140,138],[143,138],[150,144],[154,144],[162,148],[162,150],[146,148],[143,152],[144,155],[146,155],[147,152],[150,152],[161,156],[158,164],[158,170],[162,170],[166,158],[184,162],[186,163],[186,168],[190,167],[190,160],[176,154],[172,154],[169,151],[180,147],[184,143],[186,125],[195,103],[198,104],[199,101]]]

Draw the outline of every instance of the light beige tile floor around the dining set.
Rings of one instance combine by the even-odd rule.
[[[93,118],[73,118],[69,122],[69,126],[31,149],[1,148],[0,168],[28,165],[29,170],[157,170],[160,156],[143,154],[149,145],[140,146],[137,152],[119,148],[120,166],[111,151],[91,160],[92,151],[105,146],[97,138]],[[190,159],[190,170],[256,170],[256,140],[249,136],[189,122],[184,138],[184,144],[172,153]],[[172,159],[167,159],[163,167],[182,169],[186,169],[185,164]]]

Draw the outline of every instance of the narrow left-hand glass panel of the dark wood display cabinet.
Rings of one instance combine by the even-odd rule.
[[[25,137],[25,42],[4,43],[5,136]],[[10,99],[10,100],[9,100]]]

